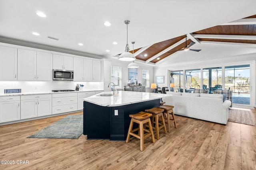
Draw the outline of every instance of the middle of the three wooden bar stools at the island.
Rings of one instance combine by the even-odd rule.
[[[148,113],[152,113],[152,128],[156,129],[156,139],[159,139],[160,129],[164,128],[164,133],[167,133],[165,122],[164,122],[164,116],[163,116],[164,109],[153,107],[152,109],[146,109],[145,111]],[[159,125],[159,119],[161,119],[162,121],[162,124],[160,125]]]

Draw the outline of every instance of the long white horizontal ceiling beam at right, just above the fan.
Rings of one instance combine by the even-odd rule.
[[[194,34],[193,36],[194,36],[195,38],[256,40],[256,35],[212,35],[212,34]]]

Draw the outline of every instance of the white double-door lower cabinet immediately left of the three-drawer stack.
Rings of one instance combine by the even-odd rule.
[[[20,119],[29,119],[52,114],[52,95],[20,96]]]

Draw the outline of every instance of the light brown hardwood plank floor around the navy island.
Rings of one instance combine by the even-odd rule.
[[[256,122],[256,111],[250,110]],[[82,112],[73,113],[82,114]],[[160,139],[125,141],[26,138],[66,115],[0,127],[0,164],[8,169],[187,169],[255,170],[256,127],[228,122],[220,125],[176,115],[178,128],[160,133]],[[28,160],[29,164],[17,164]]]

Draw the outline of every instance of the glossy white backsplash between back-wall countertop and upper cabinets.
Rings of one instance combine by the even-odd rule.
[[[52,90],[75,90],[76,84],[83,84],[83,90],[103,90],[103,82],[75,82],[75,81],[0,81],[0,94],[4,89],[21,89],[22,93],[26,92],[48,92]]]

